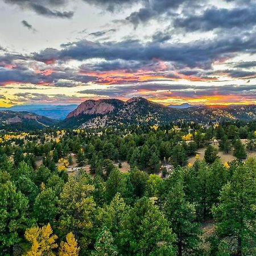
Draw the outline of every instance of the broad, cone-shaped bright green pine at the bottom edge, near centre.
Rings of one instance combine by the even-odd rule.
[[[123,255],[176,255],[175,236],[163,213],[146,197],[139,199],[121,224],[119,249]]]

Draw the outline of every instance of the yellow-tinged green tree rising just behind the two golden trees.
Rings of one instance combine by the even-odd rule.
[[[85,254],[94,236],[94,218],[96,204],[93,197],[93,186],[88,184],[87,177],[76,180],[69,178],[65,183],[59,200],[60,237],[72,232],[77,238],[81,254]]]

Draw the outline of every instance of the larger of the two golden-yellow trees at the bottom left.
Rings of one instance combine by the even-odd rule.
[[[25,238],[31,243],[31,248],[24,254],[26,256],[54,255],[52,249],[58,247],[55,240],[57,236],[52,234],[51,225],[42,228],[33,226],[25,232]]]

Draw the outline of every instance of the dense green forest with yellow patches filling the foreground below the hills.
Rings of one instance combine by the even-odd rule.
[[[0,253],[256,255],[255,131],[256,122],[1,131]],[[218,151],[236,159],[222,163]]]

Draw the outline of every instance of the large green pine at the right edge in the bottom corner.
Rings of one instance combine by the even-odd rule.
[[[255,255],[256,237],[256,171],[255,164],[241,164],[224,185],[220,204],[213,207],[217,220],[217,234],[220,242],[233,238],[236,241],[236,255]],[[227,243],[229,253],[232,247]]]

